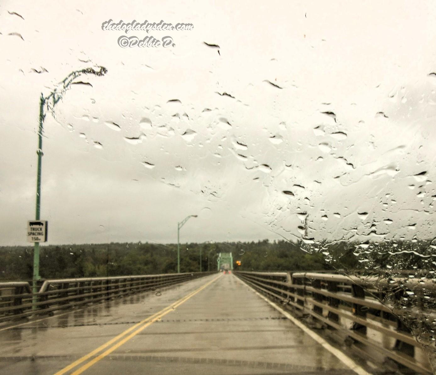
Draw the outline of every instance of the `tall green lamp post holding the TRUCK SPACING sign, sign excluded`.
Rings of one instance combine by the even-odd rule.
[[[93,74],[96,76],[102,76],[107,73],[107,69],[99,66],[100,70],[95,71],[93,68],[85,68],[81,70],[75,70],[71,72],[67,77],[61,82],[61,84],[54,89],[50,95],[44,97],[44,94],[41,93],[41,98],[39,100],[39,127],[38,127],[38,149],[36,151],[38,155],[38,164],[37,164],[37,175],[36,175],[36,212],[35,212],[35,220],[39,221],[40,213],[41,213],[41,164],[42,164],[42,156],[44,153],[42,152],[42,133],[44,132],[44,120],[46,113],[50,110],[51,114],[54,116],[54,106],[58,104],[59,100],[62,99],[62,95],[65,94],[68,87],[75,83],[73,82],[75,78],[78,78],[82,74]],[[47,110],[44,111],[44,107],[47,106]],[[34,253],[33,253],[33,283],[32,283],[32,291],[33,291],[33,309],[36,309],[36,294],[37,293],[37,281],[41,279],[39,275],[39,242],[34,243]]]

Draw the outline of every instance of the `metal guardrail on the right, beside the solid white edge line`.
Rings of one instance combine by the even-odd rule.
[[[313,272],[236,271],[235,275],[300,316],[312,317],[364,357],[378,359],[379,363],[388,358],[395,366],[433,374],[422,345],[394,314],[395,308],[374,297],[379,292],[375,283],[388,286],[388,281]],[[405,284],[436,290],[435,284],[422,280]]]

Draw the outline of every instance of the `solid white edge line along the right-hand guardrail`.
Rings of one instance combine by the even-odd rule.
[[[283,310],[281,307],[279,307],[276,303],[270,301],[265,296],[262,296],[257,290],[255,290],[252,286],[249,286],[247,283],[245,283],[244,280],[239,279],[242,283],[244,283],[246,286],[248,286],[254,293],[256,293],[262,300],[265,300],[269,305],[274,307],[276,310],[278,310],[280,313],[282,313],[285,317],[287,317],[293,324],[295,324],[297,327],[301,328],[305,333],[307,333],[313,340],[317,341],[317,343],[321,344],[325,349],[330,351],[331,354],[333,354],[337,359],[339,359],[342,363],[347,365],[347,367],[351,368],[354,372],[356,372],[358,375],[371,375],[371,373],[367,372],[359,366],[356,362],[354,362],[350,357],[342,353],[339,349],[334,348],[332,345],[330,345],[324,338],[322,338],[319,334],[313,332],[310,328],[306,327],[303,323],[300,322],[300,320],[294,318],[291,314]]]

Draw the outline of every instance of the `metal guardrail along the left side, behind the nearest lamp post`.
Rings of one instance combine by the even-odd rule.
[[[53,313],[55,310],[127,294],[157,291],[158,288],[212,273],[215,272],[45,280],[38,293],[32,293],[27,282],[0,283],[0,322]]]

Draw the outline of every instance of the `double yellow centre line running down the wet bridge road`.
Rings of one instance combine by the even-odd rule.
[[[126,336],[125,338],[123,338],[122,340],[118,341],[115,345],[113,345],[111,348],[107,349],[106,351],[104,351],[102,354],[98,355],[97,357],[93,358],[91,361],[89,361],[88,363],[86,363],[85,365],[83,365],[82,367],[78,368],[75,372],[73,372],[71,375],[78,375],[81,374],[82,372],[84,372],[87,368],[91,367],[92,365],[94,365],[95,363],[97,363],[98,361],[100,361],[100,359],[106,357],[106,355],[112,353],[112,351],[114,351],[115,349],[119,348],[121,345],[123,345],[124,343],[126,343],[127,341],[129,341],[131,338],[133,338],[134,336],[136,336],[138,333],[140,333],[141,331],[143,331],[146,327],[150,326],[151,324],[153,324],[155,321],[159,320],[161,317],[167,315],[168,313],[170,313],[171,311],[173,311],[176,307],[180,306],[182,303],[186,302],[187,300],[189,300],[191,297],[194,297],[194,295],[196,295],[197,293],[201,292],[201,290],[203,290],[204,288],[208,287],[211,283],[215,282],[216,280],[218,280],[220,277],[222,276],[219,275],[218,277],[215,277],[215,279],[209,281],[208,283],[205,283],[203,286],[201,286],[200,288],[198,288],[197,290],[194,290],[191,293],[188,293],[186,296],[182,297],[180,300],[177,300],[174,303],[171,303],[169,306],[165,307],[164,309],[158,311],[156,314],[151,315],[150,317],[147,317],[146,319],[140,321],[139,323],[136,323],[135,325],[133,325],[132,327],[128,328],[126,331],[120,333],[119,335],[117,335],[116,337],[112,338],[111,340],[109,340],[108,342],[106,342],[105,344],[99,346],[98,348],[94,349],[93,351],[91,351],[90,353],[88,353],[87,355],[84,355],[82,358],[77,359],[76,361],[72,362],[70,365],[66,366],[65,368],[62,368],[60,371],[56,372],[54,375],[62,375],[65,374],[66,372],[70,371],[72,368],[75,368],[77,365],[81,364],[82,362],[88,360],[89,358],[93,357],[94,355],[96,355],[97,353],[99,353],[100,351],[102,351],[103,349],[106,349],[107,347],[109,347],[110,345],[112,345],[114,342],[116,342],[117,340],[119,340],[120,338],[123,338],[124,336],[126,336],[126,334],[128,334],[129,332],[132,332],[135,328],[138,328],[136,331],[132,332],[131,334],[129,334],[128,336]],[[142,327],[140,327],[142,325]]]

